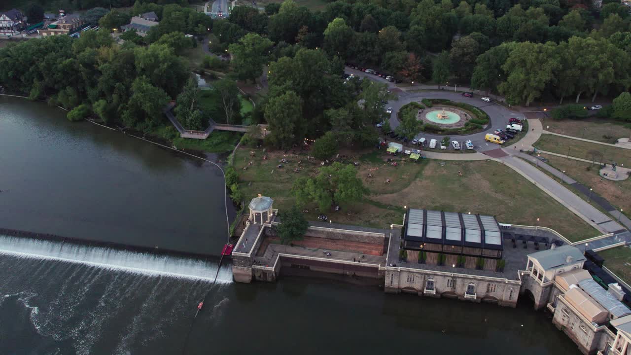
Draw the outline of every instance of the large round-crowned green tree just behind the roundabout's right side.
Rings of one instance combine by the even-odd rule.
[[[525,101],[528,106],[540,97],[560,66],[556,44],[519,43],[502,66],[509,76],[499,85],[500,93],[509,104]]]

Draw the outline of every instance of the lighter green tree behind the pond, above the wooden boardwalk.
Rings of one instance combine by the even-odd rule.
[[[248,33],[237,44],[231,44],[232,66],[240,80],[252,80],[261,76],[262,67],[268,62],[272,42],[256,33]]]

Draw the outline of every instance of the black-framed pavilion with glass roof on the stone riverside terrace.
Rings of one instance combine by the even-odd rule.
[[[495,217],[410,208],[403,224],[404,249],[502,258],[504,238]]]

